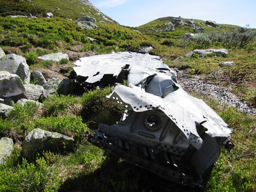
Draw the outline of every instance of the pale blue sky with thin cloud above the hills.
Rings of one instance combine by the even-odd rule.
[[[138,27],[161,17],[214,20],[256,28],[256,0],[91,0],[119,24]]]

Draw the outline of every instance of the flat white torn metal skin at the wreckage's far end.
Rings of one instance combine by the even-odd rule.
[[[76,76],[88,77],[86,83],[99,82],[104,75],[113,74],[117,77],[125,66],[129,66],[127,81],[138,84],[142,79],[155,73],[176,75],[175,71],[163,63],[159,56],[141,54],[136,52],[118,52],[104,55],[83,57],[74,62]],[[173,77],[175,78],[175,77]]]

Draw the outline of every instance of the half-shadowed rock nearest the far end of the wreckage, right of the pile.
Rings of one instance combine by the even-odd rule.
[[[52,78],[44,84],[44,98],[49,97],[50,95],[54,95],[56,92],[63,95],[68,95],[75,88],[75,82],[70,79],[57,79]]]

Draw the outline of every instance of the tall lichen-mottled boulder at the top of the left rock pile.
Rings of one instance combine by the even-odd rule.
[[[25,83],[30,81],[30,71],[26,59],[20,55],[8,54],[0,58],[0,71],[8,71],[20,76]],[[0,96],[1,97],[1,96]]]

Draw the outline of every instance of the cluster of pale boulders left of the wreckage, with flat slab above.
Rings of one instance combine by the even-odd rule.
[[[54,57],[56,56],[56,57]],[[54,53],[44,55],[42,60],[67,59],[67,54]],[[30,84],[30,81],[36,82]],[[35,81],[36,80],[36,81]],[[47,98],[56,92],[67,95],[72,92],[75,83],[69,79],[51,78],[46,81],[39,70],[29,70],[26,59],[20,55],[5,55],[0,48],[0,116],[5,118],[13,109],[13,104],[24,105],[26,102],[38,102],[40,97]]]

